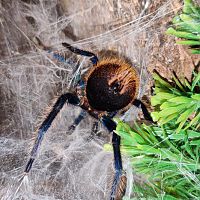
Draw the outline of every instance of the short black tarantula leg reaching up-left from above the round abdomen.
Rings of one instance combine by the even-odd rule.
[[[78,54],[78,55],[82,55],[82,56],[87,56],[90,57],[90,61],[92,62],[93,65],[96,65],[98,62],[98,58],[94,53],[91,53],[89,51],[84,51],[75,47],[72,47],[70,44],[68,43],[62,43],[62,45],[64,47],[66,47],[67,49],[69,49],[71,52]]]

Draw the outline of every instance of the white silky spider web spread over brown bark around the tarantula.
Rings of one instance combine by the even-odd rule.
[[[171,13],[170,1],[147,12],[150,1],[45,1],[0,2],[0,198],[11,199],[108,199],[113,176],[112,152],[100,126],[100,136],[88,140],[94,119],[86,117],[72,133],[67,131],[80,108],[66,105],[45,135],[31,173],[23,171],[34,141],[34,131],[55,96],[73,87],[73,80],[87,70],[87,58],[66,52],[67,41],[82,49],[114,50],[126,55],[138,68],[141,81],[138,97],[150,80],[148,52],[154,42],[153,28]],[[131,3],[132,2],[132,3]],[[105,7],[106,5],[106,7]],[[139,13],[139,14],[138,14]],[[95,15],[95,17],[94,17]],[[99,17],[101,16],[101,17]],[[59,62],[35,46],[40,38],[55,51],[65,51]],[[138,109],[123,116],[133,121]],[[124,158],[130,196],[132,171]]]

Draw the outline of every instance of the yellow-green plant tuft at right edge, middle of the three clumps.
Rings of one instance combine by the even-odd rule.
[[[184,130],[190,126],[198,129],[200,73],[194,73],[191,83],[187,79],[181,81],[175,75],[171,83],[157,73],[153,74],[153,78],[155,80],[155,95],[151,98],[151,104],[155,106],[155,112],[151,113],[153,120],[160,125],[174,120],[173,123],[177,124],[177,133],[183,127]]]

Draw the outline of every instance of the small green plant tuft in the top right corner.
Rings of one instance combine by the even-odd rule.
[[[189,45],[193,54],[200,54],[200,7],[192,0],[184,0],[182,13],[174,17],[172,23],[166,33],[184,39],[176,43]]]

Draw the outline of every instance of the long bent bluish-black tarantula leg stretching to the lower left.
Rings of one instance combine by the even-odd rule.
[[[57,114],[59,113],[59,111],[62,109],[62,107],[64,106],[64,104],[67,101],[68,101],[68,103],[73,104],[73,105],[79,105],[79,103],[80,103],[78,97],[71,93],[63,94],[58,98],[58,100],[54,104],[51,112],[49,113],[47,118],[44,120],[44,122],[38,129],[38,135],[35,140],[35,144],[32,148],[32,151],[30,154],[30,159],[24,170],[25,173],[28,173],[30,171],[30,169],[32,168],[33,162],[37,156],[37,152],[38,152],[39,146],[41,145],[41,142],[43,140],[44,134],[47,132],[47,130],[51,126],[53,120],[55,119],[55,117],[57,116]]]

